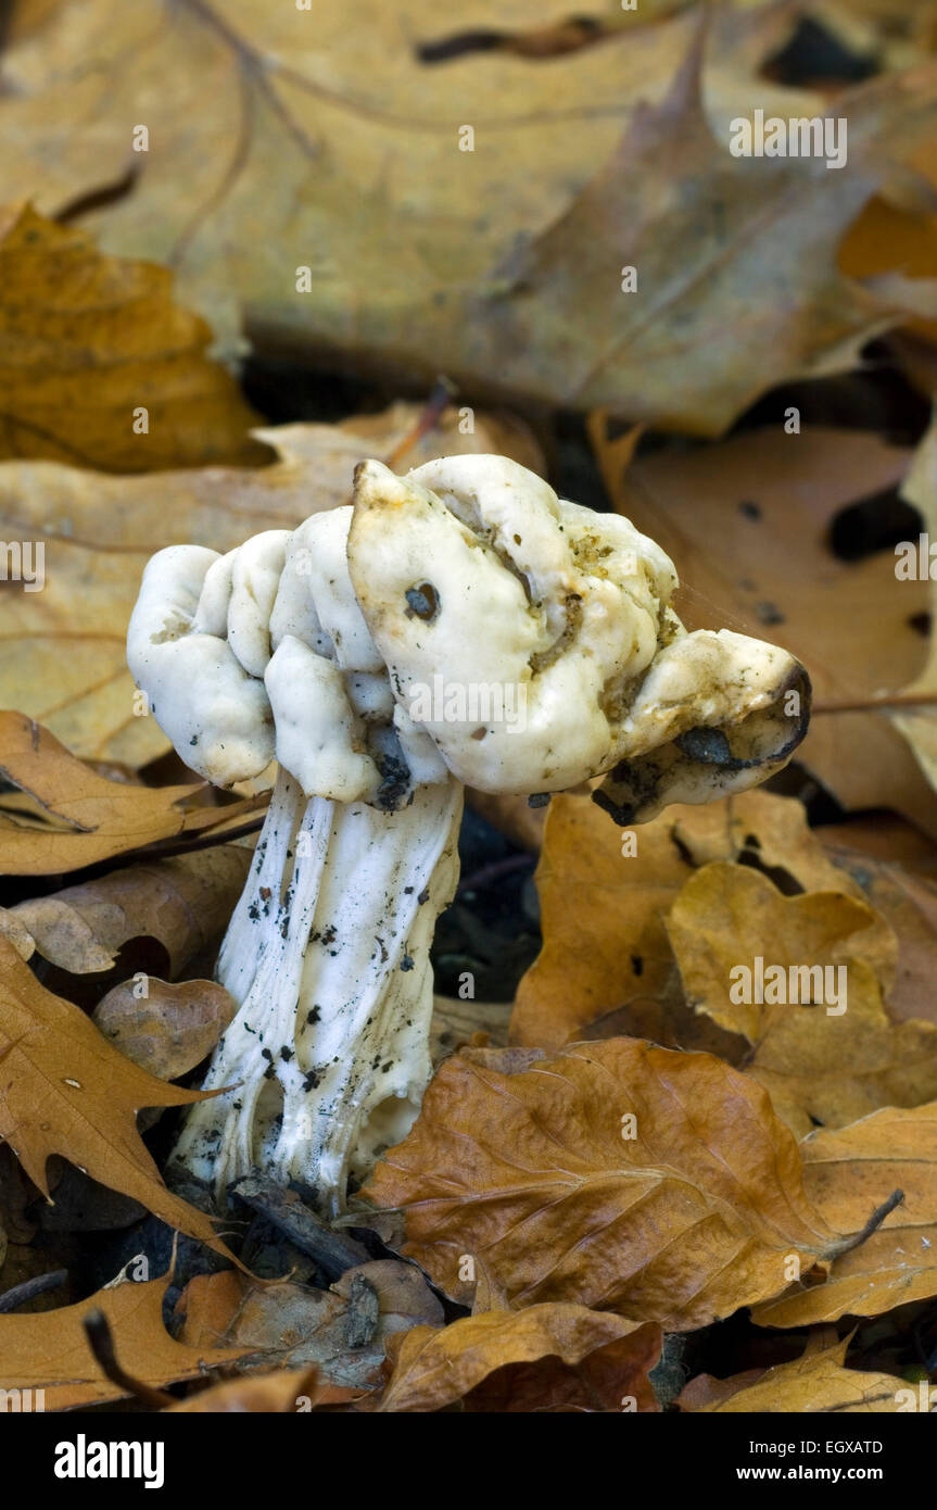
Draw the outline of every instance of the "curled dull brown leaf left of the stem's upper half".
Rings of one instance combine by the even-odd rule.
[[[131,939],[154,939],[166,959],[163,968],[175,978],[217,942],[249,868],[250,850],[234,844],[125,865],[0,909],[0,932],[23,959],[38,950],[51,965],[78,975],[110,969]]]

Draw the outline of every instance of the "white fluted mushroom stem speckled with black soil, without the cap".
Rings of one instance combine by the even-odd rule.
[[[432,1074],[430,945],[459,877],[462,785],[398,812],[306,799],[281,769],[217,975],[240,1010],[175,1160],[223,1200],[261,1164],[344,1206],[349,1175],[406,1136]],[[237,1084],[235,1084],[237,1083]]]

